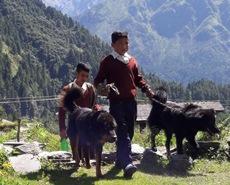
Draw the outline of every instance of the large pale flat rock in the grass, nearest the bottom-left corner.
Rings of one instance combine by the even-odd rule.
[[[37,172],[41,169],[41,163],[37,156],[24,154],[17,157],[10,157],[9,161],[13,169],[22,174]]]

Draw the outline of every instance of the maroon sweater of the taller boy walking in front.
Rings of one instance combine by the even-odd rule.
[[[128,64],[114,59],[112,55],[103,58],[96,78],[94,79],[95,87],[104,80],[107,83],[114,83],[118,88],[120,95],[116,95],[113,90],[109,93],[109,100],[131,101],[136,96],[136,87],[142,88],[145,92],[147,83],[142,79],[136,60],[131,57]]]

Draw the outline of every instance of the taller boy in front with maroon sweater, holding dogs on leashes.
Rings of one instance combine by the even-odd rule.
[[[136,60],[127,53],[129,49],[128,33],[126,31],[114,31],[111,35],[113,52],[102,59],[94,79],[97,87],[100,83],[115,83],[120,94],[110,91],[110,113],[117,122],[117,160],[115,166],[124,170],[124,177],[131,178],[137,171],[132,164],[131,141],[134,134],[134,122],[137,117],[137,103],[135,101],[136,87],[148,97],[153,96],[152,90],[142,79]],[[107,89],[105,88],[104,91]]]

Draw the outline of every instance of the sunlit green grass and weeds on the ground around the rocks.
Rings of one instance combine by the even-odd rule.
[[[25,124],[25,123],[23,123]],[[229,128],[223,132],[224,137],[229,133]],[[30,130],[22,134],[27,137],[27,141],[38,141],[47,143],[50,151],[58,150],[60,147],[59,136],[51,134],[43,128],[41,123],[34,121]],[[6,135],[1,135],[0,140],[14,139],[15,130]],[[206,136],[200,136],[205,138]],[[224,138],[223,136],[221,138]],[[158,144],[164,143],[164,135],[157,138]],[[133,143],[143,147],[150,146],[148,130],[139,133],[135,129]],[[173,141],[174,143],[174,141]],[[104,151],[114,151],[114,144],[106,144]],[[225,150],[226,151],[226,150]],[[167,168],[168,160],[150,160],[148,162],[136,161],[138,171],[132,179],[124,179],[123,171],[114,168],[113,164],[105,164],[102,168],[104,178],[96,177],[96,169],[93,164],[91,169],[75,166],[55,166],[51,162],[42,164],[42,170],[36,173],[20,175],[13,171],[7,161],[4,151],[0,150],[0,185],[228,185],[230,184],[230,163],[221,151],[202,156],[193,163],[193,168],[185,172],[170,171]]]

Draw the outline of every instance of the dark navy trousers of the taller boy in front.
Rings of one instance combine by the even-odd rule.
[[[110,114],[117,122],[116,163],[124,169],[132,163],[131,141],[134,134],[134,123],[137,118],[137,103],[135,100],[110,103]]]

